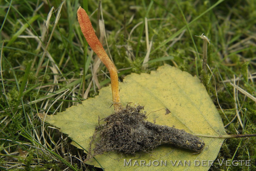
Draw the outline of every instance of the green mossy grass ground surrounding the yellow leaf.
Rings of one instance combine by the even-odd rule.
[[[37,114],[60,112],[97,95],[99,88],[110,82],[108,71],[103,65],[95,65],[90,48],[83,44],[76,11],[79,5],[86,9],[87,1],[66,0],[56,25],[61,1],[45,2],[1,1],[1,170],[91,169],[82,162],[85,154],[70,145],[71,140],[57,129],[43,123]],[[200,77],[219,110],[226,132],[255,133],[255,102],[245,94],[256,96],[256,1],[215,3],[102,1],[107,52],[116,64],[120,80],[131,72],[149,73],[164,63]],[[99,34],[97,8],[97,0],[88,2],[88,13],[92,14],[91,21]],[[202,72],[203,40],[194,36],[202,33],[211,40],[207,53],[211,71],[206,72]],[[108,49],[106,39],[103,46]],[[149,60],[143,66],[148,50]],[[97,77],[93,77],[93,69]],[[234,89],[231,83],[245,93]],[[84,96],[87,88],[89,93]],[[219,166],[215,162],[211,170],[255,170],[255,143],[253,137],[228,139],[217,157],[251,160],[250,167]]]

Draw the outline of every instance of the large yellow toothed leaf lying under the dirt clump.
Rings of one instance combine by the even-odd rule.
[[[150,122],[175,126],[191,134],[226,135],[221,117],[200,80],[172,66],[161,66],[150,74],[126,76],[120,83],[120,95],[123,106],[129,102],[144,106]],[[98,117],[105,118],[114,111],[113,107],[109,108],[111,99],[110,86],[104,87],[95,98],[84,100],[57,115],[47,116],[46,121],[88,150],[90,137],[98,126]],[[174,145],[160,145],[152,152],[137,152],[136,155],[105,152],[95,156],[97,161],[92,159],[86,163],[95,167],[100,167],[100,163],[105,170],[208,170],[223,139],[200,138],[206,144],[201,153],[195,154]],[[187,163],[184,164],[184,160]],[[200,166],[195,166],[198,164]]]

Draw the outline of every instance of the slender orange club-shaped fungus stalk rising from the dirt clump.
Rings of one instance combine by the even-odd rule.
[[[118,112],[121,109],[121,104],[118,90],[118,75],[116,67],[110,60],[108,54],[103,49],[101,42],[99,42],[99,39],[95,35],[89,16],[82,7],[78,8],[77,17],[82,33],[86,38],[86,41],[90,45],[91,49],[93,49],[93,51],[98,55],[99,59],[103,62],[103,64],[108,68],[111,80],[114,110],[115,112]]]

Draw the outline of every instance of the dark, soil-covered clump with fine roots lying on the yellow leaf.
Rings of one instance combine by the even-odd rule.
[[[143,106],[131,107],[128,104],[118,113],[104,118],[105,123],[96,128],[90,142],[90,147],[92,144],[95,147],[90,149],[87,159],[109,151],[149,152],[161,144],[173,144],[195,152],[203,150],[202,139],[184,130],[146,121],[146,112],[141,112],[143,109]]]

